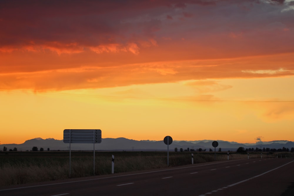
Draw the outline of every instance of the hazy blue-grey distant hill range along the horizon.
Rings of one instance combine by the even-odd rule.
[[[212,147],[213,140],[197,140],[197,141],[177,141],[174,140],[171,145],[169,145],[169,150],[174,151],[175,148],[183,148],[183,150],[190,149],[199,149],[209,151],[213,149]],[[34,146],[43,148],[46,151],[48,148],[50,150],[69,150],[69,144],[64,143],[63,140],[55,140],[53,138],[42,139],[35,138],[31,140],[26,140],[23,144],[1,144],[0,150],[3,150],[3,147],[6,147],[7,150],[17,148],[18,151],[32,150]],[[291,141],[272,141],[272,142],[261,142],[259,141],[256,144],[242,144],[236,142],[228,141],[218,141],[218,148],[221,148],[222,151],[236,151],[239,147],[243,148],[294,148],[294,143]],[[93,144],[71,144],[71,150],[93,150]],[[95,150],[107,150],[107,151],[167,151],[167,145],[161,141],[150,141],[150,140],[130,140],[127,138],[103,138],[100,144],[95,144]]]

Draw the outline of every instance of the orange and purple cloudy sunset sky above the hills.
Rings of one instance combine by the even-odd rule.
[[[294,1],[2,0],[0,108],[1,144],[294,141]]]

